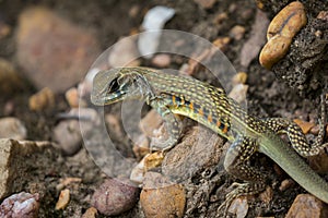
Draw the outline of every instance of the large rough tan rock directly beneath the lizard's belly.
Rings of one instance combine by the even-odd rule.
[[[164,157],[162,172],[165,177],[184,181],[220,161],[224,141],[212,131],[195,126],[180,142]]]

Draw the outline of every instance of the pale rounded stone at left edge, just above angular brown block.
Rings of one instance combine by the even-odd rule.
[[[0,119],[0,138],[25,140],[27,130],[21,120],[12,117]]]

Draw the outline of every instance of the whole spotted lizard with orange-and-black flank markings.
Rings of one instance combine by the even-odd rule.
[[[249,116],[227,97],[223,88],[191,76],[167,74],[149,68],[118,68],[96,74],[91,93],[94,105],[104,106],[128,99],[144,100],[163,118],[168,138],[153,144],[154,149],[167,150],[177,144],[181,131],[178,116],[196,120],[232,143],[224,158],[224,168],[246,182],[236,183],[218,211],[224,210],[226,215],[234,198],[265,190],[266,174],[248,165],[249,158],[257,152],[271,158],[307,192],[328,203],[328,183],[300,157],[317,155],[328,145],[323,144],[324,122],[320,122],[318,136],[311,146],[293,121]],[[321,120],[325,120],[325,104],[321,106]],[[280,137],[282,133],[289,136],[290,144]]]

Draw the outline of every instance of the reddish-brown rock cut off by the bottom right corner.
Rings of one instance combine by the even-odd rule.
[[[294,217],[328,217],[328,207],[311,194],[298,194],[285,216],[285,218]]]

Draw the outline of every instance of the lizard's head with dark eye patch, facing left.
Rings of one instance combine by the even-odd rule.
[[[97,106],[147,96],[150,86],[139,68],[118,68],[98,72],[93,80],[91,101]]]

